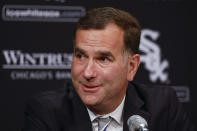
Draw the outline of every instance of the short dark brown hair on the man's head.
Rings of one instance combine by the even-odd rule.
[[[81,17],[76,24],[78,29],[104,29],[107,24],[114,23],[124,31],[125,50],[131,54],[138,53],[141,27],[138,20],[128,12],[112,7],[95,8]]]

